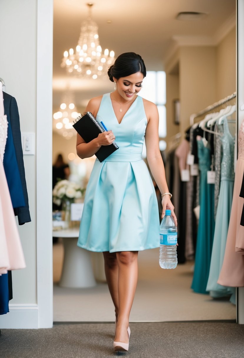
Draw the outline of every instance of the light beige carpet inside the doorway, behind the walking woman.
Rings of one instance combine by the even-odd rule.
[[[89,289],[63,289],[57,281],[62,269],[62,244],[54,245],[54,321],[106,322],[114,308],[106,284]],[[139,253],[139,280],[131,321],[234,320],[235,306],[191,289],[193,262],[163,270],[158,249]]]

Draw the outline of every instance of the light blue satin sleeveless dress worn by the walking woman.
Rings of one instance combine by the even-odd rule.
[[[159,247],[158,204],[142,160],[147,118],[137,96],[121,124],[110,93],[97,113],[113,131],[119,149],[102,163],[96,159],[87,185],[77,245],[90,251],[140,251]]]

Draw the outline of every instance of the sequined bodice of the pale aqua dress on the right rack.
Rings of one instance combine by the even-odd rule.
[[[223,156],[221,161],[221,180],[233,180],[235,138],[230,134],[227,118],[223,118],[223,134],[221,135]]]

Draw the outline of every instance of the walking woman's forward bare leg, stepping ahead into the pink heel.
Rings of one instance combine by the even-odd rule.
[[[116,252],[118,262],[118,321],[114,340],[128,343],[127,328],[138,278],[138,251]]]

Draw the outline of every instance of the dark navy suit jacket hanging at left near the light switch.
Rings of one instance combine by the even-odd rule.
[[[23,150],[21,144],[19,111],[14,97],[8,95],[8,93],[3,92],[3,98],[4,98],[4,112],[7,115],[8,122],[10,122],[12,128],[15,154],[18,163],[21,185],[22,185],[24,201],[25,201],[25,206],[14,208],[14,213],[15,215],[18,215],[19,225],[23,225],[26,222],[30,222],[31,219],[30,219],[28,193],[27,193],[26,180],[25,180],[25,168],[24,168]]]

